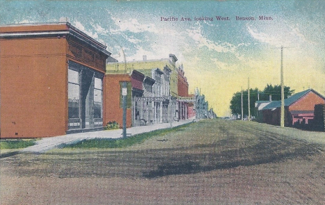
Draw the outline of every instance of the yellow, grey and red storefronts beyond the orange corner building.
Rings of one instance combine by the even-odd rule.
[[[127,118],[131,120],[127,126],[160,124],[194,117],[188,113],[189,107],[195,110],[194,98],[188,96],[188,81],[184,76],[183,66],[176,67],[176,61],[176,56],[169,54],[169,58],[160,60],[147,60],[144,56],[140,61],[108,62],[106,77],[115,81],[108,80],[107,88],[119,89],[122,92],[118,85],[128,76],[131,113]],[[124,69],[120,69],[122,67]],[[112,94],[108,98],[114,97],[118,96]],[[121,93],[119,98],[122,98]],[[108,110],[112,111],[106,119],[122,124],[122,106],[119,110],[113,109],[113,104],[107,106]]]

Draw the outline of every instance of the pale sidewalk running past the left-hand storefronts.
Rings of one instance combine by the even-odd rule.
[[[193,120],[181,120],[180,122],[173,122],[174,126],[180,126],[182,124],[188,124]],[[170,128],[169,123],[163,124],[151,124],[147,126],[133,126],[131,128],[126,129],[127,136],[134,136],[140,133],[146,133],[158,129],[167,129]],[[92,139],[92,138],[122,138],[122,129],[115,129],[115,130],[108,130],[108,131],[93,131],[87,133],[72,133],[67,134],[64,136],[56,136],[51,138],[42,138],[41,140],[37,141],[37,145],[33,145],[31,147],[26,147],[22,149],[20,152],[33,152],[33,153],[42,153],[49,149],[53,149],[56,147],[60,147],[62,145],[71,145],[76,142],[85,139]]]

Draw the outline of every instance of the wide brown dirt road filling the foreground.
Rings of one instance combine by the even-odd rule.
[[[1,158],[1,204],[325,204],[325,146],[301,134],[322,136],[203,120],[126,149]]]

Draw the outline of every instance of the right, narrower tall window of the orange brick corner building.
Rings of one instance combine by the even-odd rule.
[[[94,78],[94,118],[102,118],[101,108],[103,107],[103,81]]]

